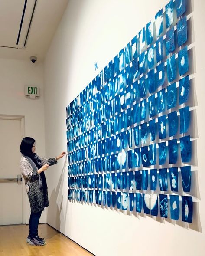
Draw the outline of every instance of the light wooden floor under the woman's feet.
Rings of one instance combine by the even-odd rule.
[[[0,256],[93,255],[47,224],[39,224],[39,236],[45,238],[45,246],[26,243],[28,231],[28,225],[0,226]]]

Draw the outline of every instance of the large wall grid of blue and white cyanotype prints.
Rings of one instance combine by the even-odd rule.
[[[185,7],[159,10],[66,108],[68,200],[192,222],[174,194],[192,188]]]

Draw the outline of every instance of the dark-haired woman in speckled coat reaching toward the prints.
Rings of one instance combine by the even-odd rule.
[[[57,164],[57,160],[65,155],[62,152],[55,158],[40,158],[36,153],[36,141],[33,138],[23,138],[20,151],[22,158],[20,160],[20,169],[26,184],[26,192],[29,197],[31,215],[29,219],[29,236],[27,242],[30,245],[44,245],[44,238],[38,235],[38,225],[44,207],[49,206],[48,187],[44,171],[50,165]]]

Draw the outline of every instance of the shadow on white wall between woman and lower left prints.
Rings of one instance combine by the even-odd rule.
[[[65,217],[67,216],[67,211],[68,211],[68,207],[67,207],[68,200],[67,200],[66,213],[64,216],[62,211],[62,204],[63,204],[63,197],[65,197],[65,193],[63,193],[63,181],[65,178],[64,173],[66,169],[66,160],[67,158],[65,157],[65,162],[61,171],[58,184],[56,188],[52,190],[52,193],[49,197],[50,206],[48,207],[48,213],[47,213],[47,223],[49,223],[49,225],[53,226],[56,230],[59,230],[59,231],[61,231],[60,230],[61,222],[63,225],[65,225]]]

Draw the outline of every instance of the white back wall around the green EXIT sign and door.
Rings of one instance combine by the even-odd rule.
[[[45,156],[43,82],[42,64],[33,64],[29,60],[0,59],[0,115],[24,116],[25,136],[36,139],[36,152],[42,157]],[[25,85],[40,87],[41,97],[27,99],[24,95]],[[19,166],[16,168],[20,169]],[[29,214],[26,195],[26,223],[29,222]],[[46,222],[46,213],[42,214],[40,221]]]

